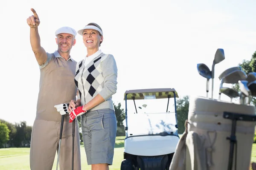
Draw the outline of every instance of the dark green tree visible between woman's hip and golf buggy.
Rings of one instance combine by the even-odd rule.
[[[117,121],[117,132],[116,136],[125,136],[125,127],[122,121],[125,119],[125,111],[121,109],[121,103],[118,105],[114,105],[115,114],[116,114],[116,121]]]

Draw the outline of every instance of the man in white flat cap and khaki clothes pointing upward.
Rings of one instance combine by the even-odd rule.
[[[58,50],[47,53],[40,44],[38,26],[40,20],[33,8],[34,15],[27,19],[30,27],[30,43],[40,68],[40,85],[36,118],[32,129],[30,147],[31,170],[52,170],[61,128],[61,115],[55,105],[76,100],[77,88],[74,82],[76,61],[70,57],[70,50],[76,44],[76,31],[61,27],[56,32]],[[68,112],[67,112],[68,113]],[[69,114],[64,114],[59,167],[70,170],[72,163],[72,123]],[[80,139],[76,119],[74,169],[81,170]]]

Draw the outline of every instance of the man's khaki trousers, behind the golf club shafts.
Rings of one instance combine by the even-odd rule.
[[[30,169],[52,170],[60,137],[61,122],[35,119],[30,146]],[[59,158],[59,170],[71,170],[72,123],[64,122]],[[74,170],[81,170],[78,122],[75,125]]]

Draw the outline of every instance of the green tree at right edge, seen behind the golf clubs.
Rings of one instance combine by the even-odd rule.
[[[239,66],[241,66],[242,70],[246,74],[249,74],[250,72],[256,72],[256,51],[253,53],[250,60],[243,60],[241,63],[239,63]],[[233,85],[233,88],[237,91],[240,91],[238,84]],[[253,97],[252,103],[253,105],[256,105],[256,97]]]

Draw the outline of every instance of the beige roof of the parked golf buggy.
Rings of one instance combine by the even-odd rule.
[[[179,97],[177,94],[177,91],[175,91],[174,88],[149,88],[149,89],[137,89],[137,90],[127,90],[125,91],[125,95],[127,94],[127,100],[133,100],[134,99],[144,99],[144,96],[151,96],[155,95],[156,99],[164,99],[168,98],[168,95],[170,98]],[[125,98],[124,98],[125,100]]]

